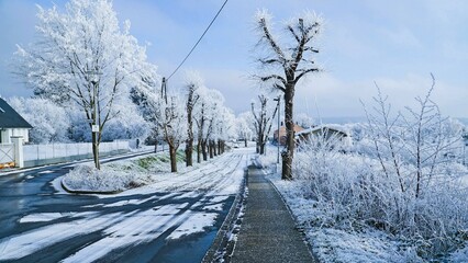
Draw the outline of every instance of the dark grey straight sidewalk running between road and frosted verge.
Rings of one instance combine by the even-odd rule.
[[[286,204],[261,169],[248,169],[247,188],[232,262],[315,262]]]

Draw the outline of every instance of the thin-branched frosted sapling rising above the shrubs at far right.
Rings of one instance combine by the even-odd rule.
[[[419,198],[439,174],[441,164],[453,161],[463,147],[463,128],[443,117],[431,100],[433,84],[424,98],[415,98],[416,108],[391,114],[388,96],[374,98],[374,111],[366,111],[368,129],[377,158],[388,178],[395,178],[401,193]]]

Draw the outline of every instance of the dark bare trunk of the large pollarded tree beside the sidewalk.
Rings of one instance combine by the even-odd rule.
[[[292,119],[294,87],[289,84],[285,92],[286,152],[282,155],[282,180],[292,180],[292,158],[294,155],[294,123]]]

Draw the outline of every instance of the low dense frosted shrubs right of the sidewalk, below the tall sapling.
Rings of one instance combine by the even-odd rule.
[[[410,169],[410,168],[405,168]],[[359,230],[371,226],[416,245],[421,255],[453,249],[468,227],[468,192],[455,174],[459,164],[445,164],[441,175],[415,198],[387,178],[379,161],[365,156],[303,146],[293,163],[304,195],[316,201],[315,226]]]

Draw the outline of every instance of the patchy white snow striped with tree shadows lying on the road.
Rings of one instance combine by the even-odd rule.
[[[135,160],[105,164],[103,170],[109,167],[111,171],[127,168],[125,172],[143,176],[146,185],[115,195],[96,195],[100,198],[80,206],[78,210],[52,208],[54,211],[51,213],[24,215],[19,220],[20,225],[37,224],[40,227],[1,238],[0,261],[21,259],[97,232],[101,238],[77,248],[63,262],[92,262],[119,249],[158,238],[168,242],[203,232],[225,209],[224,202],[238,192],[249,152],[252,149],[234,150],[193,168],[181,169],[178,173],[157,172],[155,167],[135,169],[132,164]],[[57,180],[53,185],[60,187]]]

